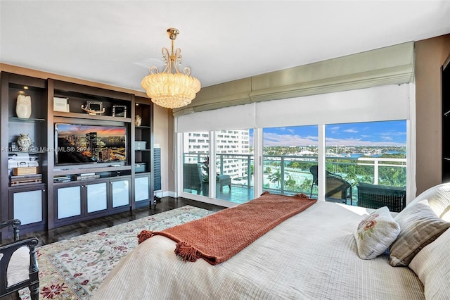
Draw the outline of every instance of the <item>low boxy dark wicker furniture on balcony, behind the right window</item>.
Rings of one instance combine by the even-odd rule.
[[[390,211],[400,212],[406,206],[406,189],[359,182],[358,206],[374,209],[387,206]]]

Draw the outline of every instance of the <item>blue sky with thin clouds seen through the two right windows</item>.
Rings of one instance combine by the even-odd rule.
[[[264,146],[307,145],[318,145],[316,125],[264,128]],[[326,125],[326,146],[405,145],[406,120]]]

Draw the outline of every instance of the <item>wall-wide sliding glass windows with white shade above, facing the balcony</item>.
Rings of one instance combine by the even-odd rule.
[[[194,132],[196,136],[192,134],[191,139],[195,140],[202,137],[202,134],[209,134],[208,139],[203,137],[205,143],[202,144],[209,148],[184,147],[183,150],[208,153],[214,157],[216,172],[233,178],[231,198],[234,196],[233,192],[238,191],[238,188],[234,188],[236,185],[247,188],[251,195],[264,190],[284,194],[303,192],[326,200],[337,197],[327,194],[330,182],[327,184],[325,175],[333,173],[351,185],[346,194],[341,196],[343,199],[337,198],[339,201],[357,205],[358,182],[406,186],[411,191],[410,199],[413,199],[413,173],[406,172],[411,162],[415,161],[413,148],[416,142],[411,135],[413,130],[410,130],[415,126],[413,120],[410,120],[410,116],[415,113],[412,90],[412,84],[386,85],[274,101],[256,101],[252,104],[203,111],[201,123],[198,122],[200,113],[182,115],[176,118],[175,130],[183,135]],[[385,125],[385,129],[393,129],[399,125],[397,133],[404,138],[399,146],[402,148],[399,149],[404,151],[398,152],[403,156],[369,157],[375,150],[380,151],[378,154],[385,155],[383,151],[398,149],[392,148],[386,135],[383,138],[389,147],[375,149],[370,146],[368,143],[371,141],[365,140],[368,135],[358,136],[357,132],[352,132],[352,126],[358,127],[361,132],[363,125],[372,126],[373,132],[375,125]],[[238,130],[237,126],[254,129]],[[336,130],[337,127],[340,130]],[[202,130],[210,131],[198,134]],[[350,138],[340,140],[339,132],[346,132]],[[276,139],[272,138],[274,136]],[[393,137],[392,135],[390,138]],[[304,140],[309,143],[302,144]],[[181,141],[180,136],[178,141]],[[355,144],[356,142],[366,144]],[[240,156],[248,153],[252,154],[250,162],[244,162]],[[223,158],[224,162],[219,161],[219,158]],[[317,180],[310,170],[314,166],[317,168]],[[250,170],[250,178],[242,172],[244,168]],[[222,188],[222,192],[228,190],[227,187]],[[210,199],[220,197],[229,201],[224,194],[217,193],[220,192],[220,187],[214,190],[216,192],[210,195]],[[248,199],[253,198],[248,196]]]

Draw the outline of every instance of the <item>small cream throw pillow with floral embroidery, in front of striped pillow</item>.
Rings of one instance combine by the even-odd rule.
[[[359,257],[372,259],[383,254],[399,233],[400,226],[392,218],[389,208],[378,208],[361,220],[353,233]]]

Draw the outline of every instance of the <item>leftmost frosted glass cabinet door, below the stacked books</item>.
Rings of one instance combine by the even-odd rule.
[[[42,222],[42,190],[14,193],[13,207],[22,225]]]

